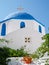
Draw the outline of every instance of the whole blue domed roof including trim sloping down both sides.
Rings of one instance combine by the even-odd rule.
[[[34,17],[32,17],[30,14],[28,13],[17,13],[17,14],[14,14],[12,15],[10,18],[6,19],[6,20],[3,20],[3,21],[0,21],[0,23],[3,23],[3,22],[6,22],[8,20],[11,20],[11,19],[20,19],[20,20],[35,20],[36,22],[40,23],[38,20],[36,20]],[[42,26],[45,26],[43,25],[42,23],[40,23]]]

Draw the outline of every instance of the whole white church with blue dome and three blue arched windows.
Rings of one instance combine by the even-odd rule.
[[[45,35],[45,26],[27,12],[14,13],[0,21],[0,38],[11,41],[0,46],[12,49],[25,46],[26,51],[33,53],[42,44],[43,35]]]

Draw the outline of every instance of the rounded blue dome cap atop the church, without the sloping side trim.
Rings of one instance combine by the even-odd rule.
[[[30,14],[28,13],[17,13],[10,17],[10,19],[34,19]]]

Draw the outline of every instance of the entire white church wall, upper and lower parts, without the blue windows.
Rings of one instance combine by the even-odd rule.
[[[26,27],[20,28],[20,22],[25,22]],[[6,22],[5,39],[10,40],[9,44],[0,44],[0,46],[8,46],[13,49],[18,49],[26,45],[25,50],[29,53],[34,52],[42,43],[41,37],[45,34],[45,28],[41,25],[42,34],[38,31],[40,24],[34,20],[9,20]],[[25,42],[25,38],[30,38],[30,43]]]

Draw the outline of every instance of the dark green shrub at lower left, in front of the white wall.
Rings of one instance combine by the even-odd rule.
[[[29,55],[26,51],[24,51],[24,48],[20,48],[17,50],[3,47],[0,48],[0,65],[7,65],[6,64],[6,58],[8,57],[23,57]]]

